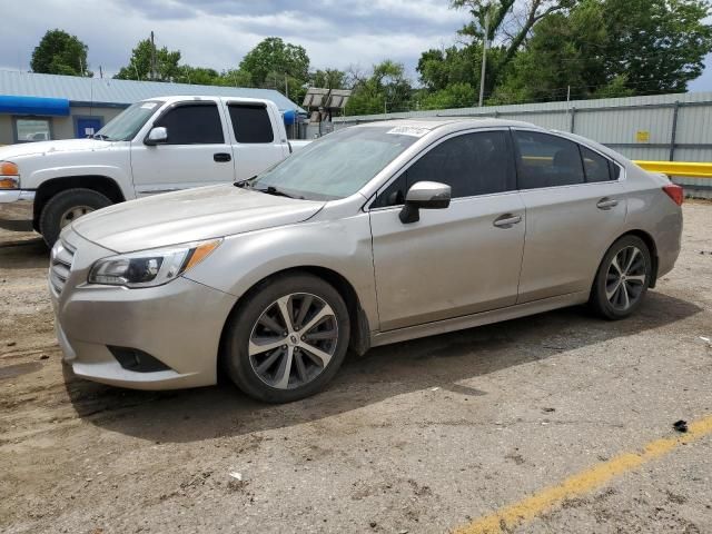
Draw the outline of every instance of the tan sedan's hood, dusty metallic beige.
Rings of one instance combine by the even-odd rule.
[[[324,204],[221,185],[117,204],[83,216],[72,229],[129,253],[300,222]]]

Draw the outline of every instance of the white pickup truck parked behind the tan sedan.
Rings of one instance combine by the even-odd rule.
[[[77,217],[158,192],[250,178],[308,141],[288,141],[270,100],[166,97],[127,108],[90,139],[0,148],[0,228],[52,245]]]

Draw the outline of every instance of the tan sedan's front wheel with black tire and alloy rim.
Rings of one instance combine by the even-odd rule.
[[[231,314],[222,363],[250,397],[289,403],[336,375],[349,337],[348,309],[332,285],[308,274],[285,275],[258,286]]]

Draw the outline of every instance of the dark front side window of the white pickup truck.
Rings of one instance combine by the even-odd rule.
[[[154,127],[168,130],[167,145],[215,145],[225,142],[215,102],[180,105],[160,117]]]

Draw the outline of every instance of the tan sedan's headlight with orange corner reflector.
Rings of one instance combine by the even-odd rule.
[[[214,239],[99,259],[91,267],[88,281],[131,288],[160,286],[198,265],[220,241]]]

